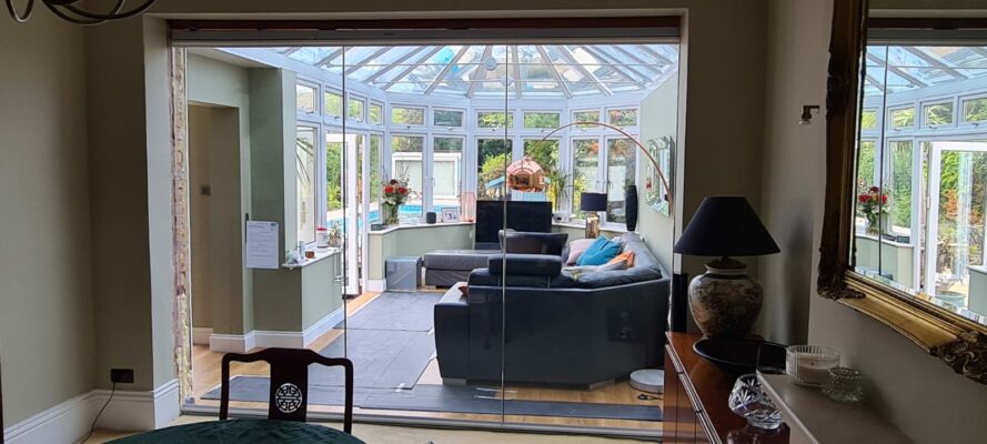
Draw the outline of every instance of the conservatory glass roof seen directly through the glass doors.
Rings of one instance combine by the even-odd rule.
[[[658,85],[676,44],[291,47],[270,51],[386,92],[449,97],[612,95]]]

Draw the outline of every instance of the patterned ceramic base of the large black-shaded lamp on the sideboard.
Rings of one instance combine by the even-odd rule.
[[[706,336],[744,336],[761,313],[763,290],[747,276],[747,265],[729,258],[706,264],[688,285],[688,306]]]

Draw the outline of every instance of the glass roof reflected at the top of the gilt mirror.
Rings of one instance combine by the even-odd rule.
[[[987,78],[987,47],[867,47],[866,94]]]

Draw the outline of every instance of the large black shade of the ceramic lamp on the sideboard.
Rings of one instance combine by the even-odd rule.
[[[695,256],[755,256],[780,250],[746,198],[712,196],[699,204],[673,251]]]

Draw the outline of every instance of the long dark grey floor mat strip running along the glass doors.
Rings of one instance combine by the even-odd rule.
[[[234,376],[230,383],[232,401],[268,402],[270,379],[266,376]],[[452,387],[419,384],[412,390],[365,389],[353,390],[353,405],[361,408],[405,410],[419,412],[450,412],[528,416],[592,417],[603,420],[662,421],[657,406],[596,404],[547,401],[491,400],[477,397],[484,394],[475,387]],[[202,396],[219,400],[220,389]],[[343,387],[310,385],[309,404],[343,405]]]

